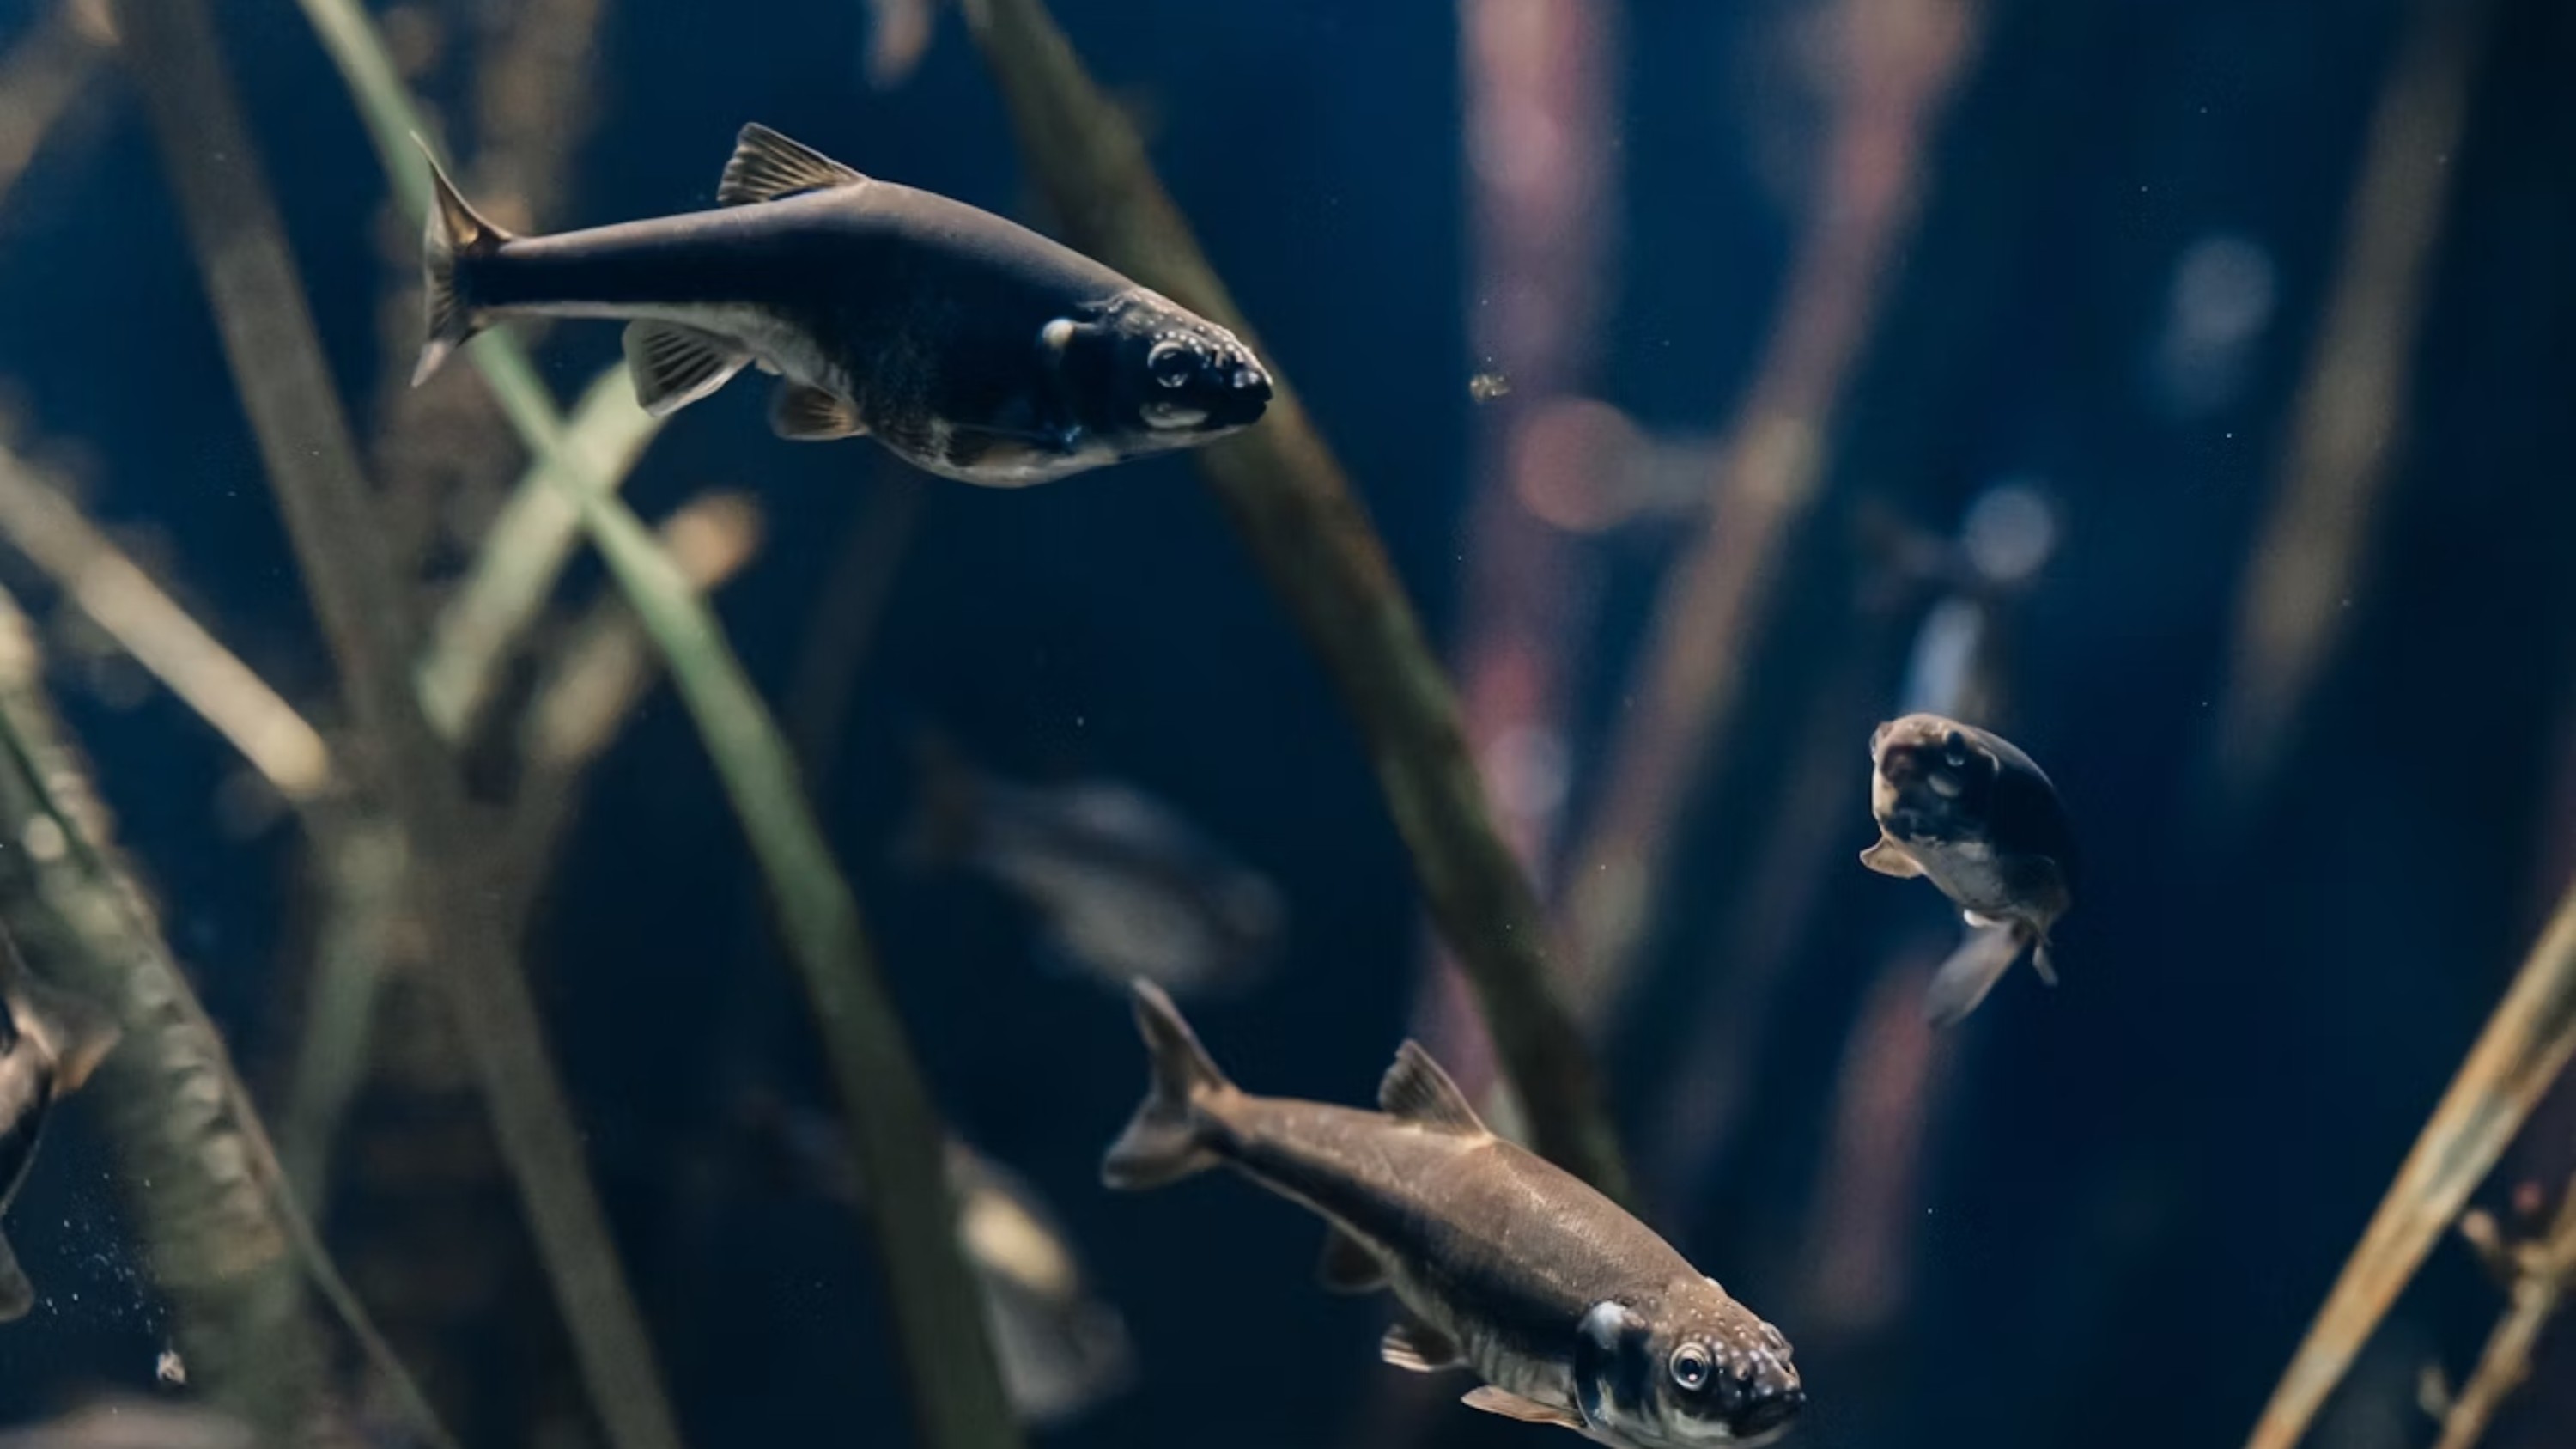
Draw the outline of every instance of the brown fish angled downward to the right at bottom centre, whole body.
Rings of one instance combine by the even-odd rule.
[[[1471,1408],[1628,1449],[1765,1444],[1806,1390],[1788,1338],[1651,1227],[1546,1158],[1494,1137],[1414,1042],[1381,1111],[1252,1096],[1162,990],[1139,980],[1154,1080],[1108,1150],[1113,1189],[1218,1163],[1332,1222],[1324,1284],[1394,1289],[1378,1354],[1473,1369]]]

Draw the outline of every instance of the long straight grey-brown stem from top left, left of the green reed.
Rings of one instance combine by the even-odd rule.
[[[374,518],[304,286],[242,124],[204,0],[129,0],[126,52],[286,529],[371,755],[361,779],[399,820],[438,980],[474,1057],[495,1134],[618,1449],[677,1449],[644,1315],[554,1075],[518,944],[489,910],[453,761],[410,686],[412,601]]]

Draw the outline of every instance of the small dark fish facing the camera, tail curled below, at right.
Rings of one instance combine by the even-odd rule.
[[[1860,864],[1924,877],[1971,926],[1932,977],[1924,1013],[1950,1026],[2030,951],[2056,985],[2048,931],[2074,905],[2076,838],[2058,786],[2002,735],[1940,714],[1906,714],[1870,735],[1878,843]]]

